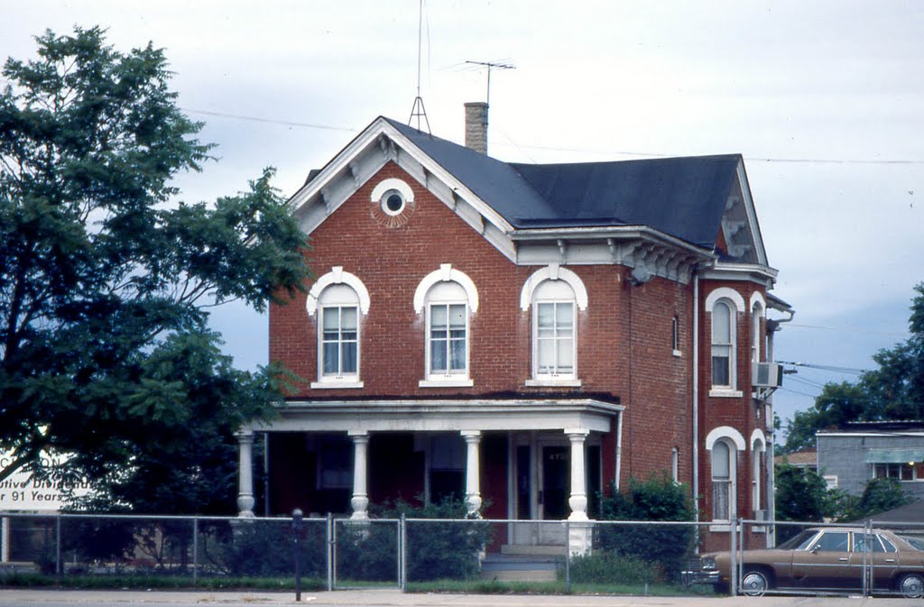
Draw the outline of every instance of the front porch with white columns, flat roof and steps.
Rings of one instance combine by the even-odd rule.
[[[522,520],[493,550],[590,550],[592,497],[618,470],[622,407],[592,399],[299,402],[238,433],[238,510],[253,516],[252,443],[266,432],[272,511],[348,515],[455,495],[468,516]],[[287,485],[287,491],[280,486]],[[590,496],[590,497],[589,497]],[[569,521],[530,525],[527,521]]]

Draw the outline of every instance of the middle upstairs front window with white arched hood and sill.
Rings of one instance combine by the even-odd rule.
[[[427,274],[414,294],[414,310],[426,314],[425,379],[421,387],[470,386],[469,317],[478,291],[465,273],[444,263]]]

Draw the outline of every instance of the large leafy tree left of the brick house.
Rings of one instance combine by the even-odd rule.
[[[15,455],[0,480],[51,449],[95,480],[147,470],[136,498],[153,509],[169,491],[154,484],[203,478],[271,408],[269,376],[231,366],[208,310],[302,288],[305,237],[272,170],[212,204],[176,200],[211,146],[162,50],[120,53],[96,28],[36,40],[0,91],[0,447]]]

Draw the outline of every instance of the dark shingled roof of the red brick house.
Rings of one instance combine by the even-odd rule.
[[[712,249],[741,161],[511,164],[385,120],[518,229],[647,225]]]

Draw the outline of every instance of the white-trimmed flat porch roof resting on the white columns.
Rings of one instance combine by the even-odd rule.
[[[289,401],[249,431],[599,431],[625,407],[583,399]]]

